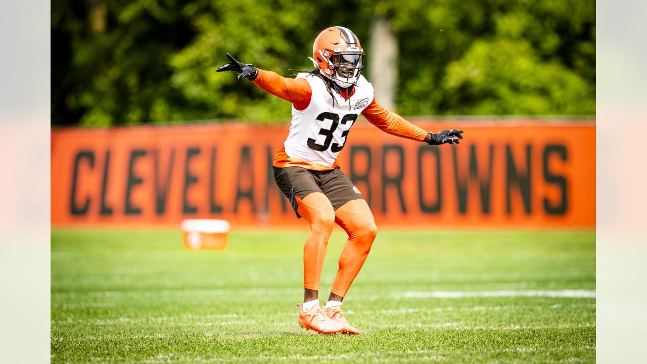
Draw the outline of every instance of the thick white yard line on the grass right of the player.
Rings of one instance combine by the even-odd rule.
[[[417,299],[461,299],[468,297],[564,297],[595,298],[595,290],[561,290],[561,291],[408,291],[393,293],[393,298]]]

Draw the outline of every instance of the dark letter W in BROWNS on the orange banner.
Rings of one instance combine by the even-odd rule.
[[[458,212],[465,214],[467,212],[467,195],[468,195],[468,182],[476,181],[479,185],[479,192],[481,194],[481,212],[483,214],[490,213],[490,186],[492,186],[492,159],[494,157],[494,145],[490,144],[488,155],[487,175],[479,173],[478,161],[476,157],[476,145],[470,145],[470,163],[469,172],[467,176],[465,173],[459,173],[458,157],[456,148],[452,148],[452,155],[454,157],[454,177],[456,181],[456,192],[458,197]]]

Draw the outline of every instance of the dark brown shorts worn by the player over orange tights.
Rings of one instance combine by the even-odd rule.
[[[353,182],[340,170],[309,170],[302,167],[274,168],[274,179],[281,192],[290,200],[292,209],[296,212],[296,198],[305,198],[313,192],[322,192],[330,200],[333,209],[338,209],[352,199],[364,199]]]

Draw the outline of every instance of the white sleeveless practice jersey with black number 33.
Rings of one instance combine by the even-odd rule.
[[[373,85],[360,76],[349,100],[333,91],[335,102],[318,76],[300,73],[312,89],[308,107],[302,111],[292,105],[292,126],[283,144],[285,154],[320,165],[333,165],[344,148],[347,135],[357,117],[373,101]],[[350,102],[350,109],[349,109]]]

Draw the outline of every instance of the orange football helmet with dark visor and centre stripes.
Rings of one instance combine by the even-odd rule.
[[[314,57],[314,58],[313,58]],[[355,84],[364,68],[364,50],[357,36],[344,27],[330,27],[314,40],[310,58],[326,78],[341,87]]]

